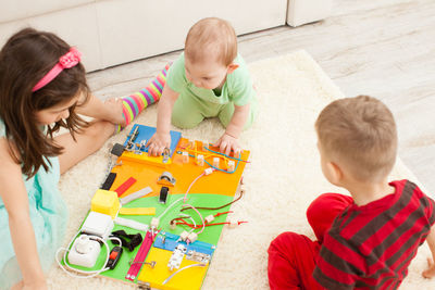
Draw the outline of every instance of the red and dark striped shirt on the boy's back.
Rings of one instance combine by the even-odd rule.
[[[396,289],[435,222],[434,201],[409,180],[396,192],[338,215],[313,273],[326,289]]]

